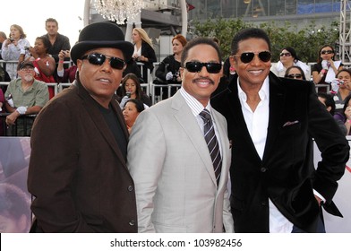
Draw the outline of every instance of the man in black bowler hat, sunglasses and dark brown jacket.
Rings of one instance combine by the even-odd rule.
[[[136,232],[128,132],[116,101],[133,45],[116,24],[88,25],[71,50],[76,81],[43,108],[31,135],[35,232]]]

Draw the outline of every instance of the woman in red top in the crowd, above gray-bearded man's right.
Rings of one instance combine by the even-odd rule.
[[[42,82],[56,82],[54,73],[56,69],[55,59],[49,56],[48,50],[51,47],[47,37],[42,36],[35,39],[34,48],[30,48],[30,57],[24,59],[29,60],[34,65],[35,78]],[[20,57],[20,62],[23,60]],[[55,96],[55,87],[49,86],[48,93],[50,100]]]

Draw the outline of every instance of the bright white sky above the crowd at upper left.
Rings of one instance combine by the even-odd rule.
[[[58,32],[67,36],[73,46],[84,25],[84,3],[85,0],[2,1],[0,30],[9,36],[10,26],[18,24],[33,46],[37,37],[47,33],[45,21],[52,17],[58,22]]]

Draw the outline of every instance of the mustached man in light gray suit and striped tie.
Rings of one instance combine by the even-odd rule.
[[[182,88],[141,112],[133,125],[127,166],[139,232],[233,231],[227,122],[210,107],[221,61],[211,39],[190,41],[181,58]],[[207,118],[202,118],[204,108]]]

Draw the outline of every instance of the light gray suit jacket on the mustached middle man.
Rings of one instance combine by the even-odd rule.
[[[217,187],[207,143],[178,91],[141,112],[128,144],[139,232],[233,231],[227,179],[227,122],[212,109],[223,165]]]

